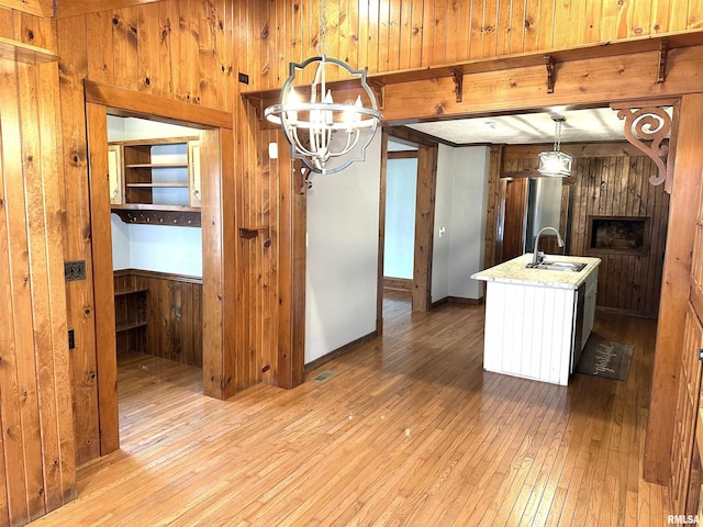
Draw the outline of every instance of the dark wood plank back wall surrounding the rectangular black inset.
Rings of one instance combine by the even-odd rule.
[[[549,149],[549,145],[543,146]],[[539,145],[506,146],[504,170],[536,168],[539,148]],[[562,149],[574,155],[569,254],[602,259],[599,307],[656,318],[669,215],[669,194],[663,186],[649,183],[657,167],[627,143],[562,145]],[[505,211],[506,216],[522,213],[523,209]],[[599,215],[648,218],[646,254],[591,249],[589,223],[591,216]],[[563,233],[565,225],[560,229]]]

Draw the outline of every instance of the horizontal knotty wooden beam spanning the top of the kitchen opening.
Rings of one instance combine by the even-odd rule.
[[[510,72],[501,70],[468,75],[465,85],[471,89],[464,94],[460,103],[446,97],[454,89],[449,77],[392,83],[386,87],[383,122],[384,125],[405,124],[410,120],[492,115],[551,105],[605,106],[614,101],[671,98],[700,91],[700,81],[690,71],[703,69],[703,46],[677,49],[676,61],[669,61],[667,81],[659,85],[651,81],[657,56],[658,52],[647,52],[560,63],[559,82],[549,96],[544,90],[544,65]],[[506,76],[518,80],[506,82]]]

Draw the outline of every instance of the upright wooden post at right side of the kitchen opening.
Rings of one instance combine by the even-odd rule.
[[[701,189],[703,94],[683,96],[679,115],[677,162],[657,325],[657,354],[644,453],[645,479],[660,485],[668,483],[670,471],[683,321],[689,300],[688,284],[699,206],[696,199],[692,198],[699,197]]]

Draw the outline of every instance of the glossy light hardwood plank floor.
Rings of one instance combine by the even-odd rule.
[[[598,316],[601,336],[635,344],[628,381],[568,388],[483,372],[482,306],[411,315],[393,298],[381,338],[291,391],[216,401],[200,370],[135,357],[121,450],[35,524],[666,525],[666,490],[640,476],[655,329]]]

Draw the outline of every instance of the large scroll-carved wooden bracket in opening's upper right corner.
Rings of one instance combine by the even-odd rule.
[[[611,104],[617,110],[617,116],[625,120],[625,137],[645,153],[658,168],[658,173],[649,178],[651,184],[665,183],[665,190],[671,193],[673,162],[670,162],[669,139],[671,117],[660,106],[632,108],[628,104]]]

